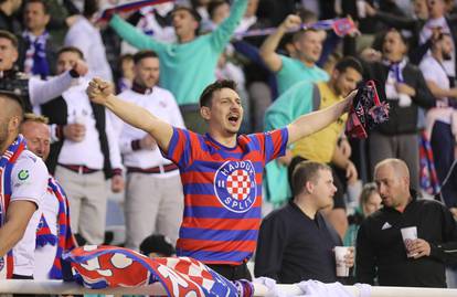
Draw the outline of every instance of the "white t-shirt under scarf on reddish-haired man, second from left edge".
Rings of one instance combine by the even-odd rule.
[[[55,197],[54,192],[52,192],[51,190],[47,191],[40,210],[42,211],[44,219],[46,220],[51,233],[57,236],[59,200]],[[49,273],[54,263],[56,253],[57,245],[47,244],[45,246],[36,247],[33,279],[49,279]]]

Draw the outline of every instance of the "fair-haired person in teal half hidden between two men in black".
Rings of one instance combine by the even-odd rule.
[[[348,216],[349,227],[344,234],[343,243],[347,246],[354,246],[357,232],[362,221],[373,212],[381,208],[381,197],[374,182],[363,185],[362,193],[359,199],[359,208],[354,214]]]

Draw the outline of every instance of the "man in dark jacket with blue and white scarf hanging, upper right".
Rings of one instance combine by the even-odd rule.
[[[379,92],[390,105],[390,120],[369,136],[370,172],[386,158],[402,159],[411,171],[412,188],[418,189],[418,106],[429,108],[435,99],[421,71],[407,61],[407,50],[404,36],[391,29],[383,38],[382,60],[364,65],[364,78],[380,82]]]

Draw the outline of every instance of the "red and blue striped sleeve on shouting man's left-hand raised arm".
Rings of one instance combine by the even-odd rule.
[[[179,168],[187,168],[193,161],[191,144],[199,144],[198,135],[187,129],[173,127],[173,135],[163,157],[173,161]]]

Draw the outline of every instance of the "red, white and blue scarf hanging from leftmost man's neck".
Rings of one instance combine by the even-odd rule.
[[[25,139],[19,135],[14,142],[3,152],[0,159],[0,227],[4,225],[7,210],[11,198],[11,171],[19,156],[25,149]],[[12,250],[7,254],[7,258],[0,258],[0,279],[12,278],[13,255]]]

